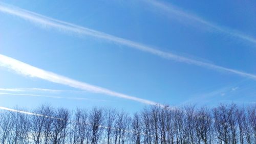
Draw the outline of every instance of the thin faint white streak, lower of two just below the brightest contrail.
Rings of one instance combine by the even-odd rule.
[[[100,99],[88,99],[88,98],[78,98],[78,97],[58,97],[58,96],[53,96],[53,95],[26,94],[26,93],[0,92],[0,95],[16,95],[16,96],[25,96],[25,97],[42,97],[42,98],[54,98],[54,99],[86,100],[86,101],[89,100],[89,101],[109,102],[108,100],[100,100]]]

